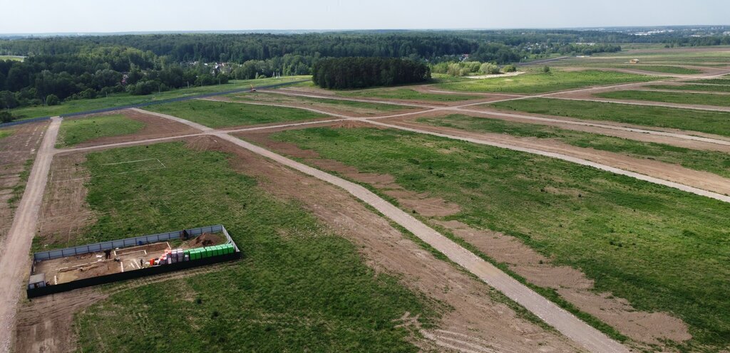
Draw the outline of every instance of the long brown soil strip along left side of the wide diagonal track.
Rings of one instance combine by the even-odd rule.
[[[461,347],[462,352],[466,348],[472,352],[581,351],[566,338],[518,317],[494,299],[486,284],[437,260],[343,190],[211,136],[188,141],[191,148],[234,154],[230,162],[237,171],[257,177],[270,193],[310,209],[337,234],[355,242],[372,268],[396,274],[405,285],[448,306],[439,329],[420,329],[417,318],[408,313],[399,319],[401,325],[420,330],[427,338],[416,342],[424,350],[450,351],[447,347],[451,345]],[[392,182],[374,174],[366,178],[386,185]]]

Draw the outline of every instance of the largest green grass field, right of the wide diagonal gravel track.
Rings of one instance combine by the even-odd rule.
[[[404,131],[309,128],[272,135],[407,190],[461,206],[445,217],[520,238],[580,268],[599,291],[730,344],[730,205],[523,152]],[[410,212],[410,210],[408,210]]]

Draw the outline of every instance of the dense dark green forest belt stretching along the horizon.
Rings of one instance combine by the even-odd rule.
[[[0,39],[0,108],[58,104],[110,93],[150,94],[228,79],[312,74],[326,58],[408,58],[437,65],[504,65],[548,55],[621,50],[624,42],[728,44],[724,37],[672,31],[350,31],[312,34],[145,34]],[[693,32],[694,33],[694,32]]]

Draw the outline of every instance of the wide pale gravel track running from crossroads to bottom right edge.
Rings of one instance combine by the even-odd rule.
[[[596,330],[585,322],[580,321],[580,319],[577,319],[577,317],[573,316],[568,311],[561,309],[555,303],[538,295],[536,292],[505,274],[491,263],[482,260],[480,257],[477,257],[477,255],[472,254],[472,252],[467,251],[463,247],[451,241],[449,238],[442,236],[436,230],[424,225],[410,214],[403,212],[388,201],[385,201],[383,198],[380,198],[370,192],[365,187],[356,185],[353,182],[348,182],[347,180],[339,177],[334,177],[331,174],[327,174],[310,166],[305,166],[302,163],[285,158],[282,155],[277,155],[274,152],[265,150],[264,148],[255,146],[241,139],[237,139],[227,133],[215,132],[212,134],[218,136],[220,139],[231,141],[240,147],[250,150],[251,152],[263,155],[266,158],[270,158],[285,166],[301,171],[304,174],[311,175],[312,177],[316,177],[332,185],[342,187],[342,189],[345,189],[356,198],[359,198],[370,206],[373,206],[377,209],[377,211],[383,213],[385,217],[390,218],[409,230],[411,233],[415,234],[418,238],[426,241],[426,243],[430,244],[431,247],[442,252],[454,263],[466,268],[466,270],[475,274],[496,290],[504,293],[504,295],[507,295],[510,299],[515,300],[515,302],[524,306],[526,309],[537,315],[537,317],[547,322],[548,325],[555,327],[556,330],[585,347],[585,349],[588,349],[591,352],[629,352],[629,349],[626,349],[625,346],[613,341],[607,335],[604,335],[604,333],[601,333],[599,330]]]

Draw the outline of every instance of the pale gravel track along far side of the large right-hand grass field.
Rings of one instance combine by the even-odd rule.
[[[563,155],[561,153],[546,152],[546,151],[543,151],[543,150],[535,150],[534,148],[518,147],[518,146],[515,146],[515,145],[512,145],[512,144],[504,144],[504,143],[500,143],[500,142],[487,141],[487,140],[483,140],[483,139],[473,139],[473,138],[470,138],[470,137],[461,137],[461,136],[448,135],[448,134],[445,134],[445,133],[437,133],[437,132],[433,132],[433,131],[426,131],[426,130],[422,130],[420,128],[406,128],[406,127],[400,126],[400,125],[393,125],[393,124],[388,124],[388,123],[380,123],[380,122],[377,122],[377,121],[372,121],[372,120],[367,120],[367,119],[358,119],[358,120],[359,121],[364,121],[366,123],[371,123],[371,124],[374,124],[374,125],[378,125],[378,126],[384,126],[386,128],[396,128],[396,129],[399,129],[399,130],[410,131],[410,132],[415,132],[415,133],[426,133],[426,134],[433,135],[433,136],[445,137],[447,139],[457,139],[457,140],[461,140],[461,141],[472,142],[472,143],[475,143],[475,144],[484,144],[484,145],[487,145],[487,146],[500,147],[500,148],[504,148],[504,149],[507,149],[507,150],[515,150],[515,151],[520,151],[520,152],[532,153],[534,155],[544,155],[545,157],[556,158],[556,159],[559,159],[559,160],[566,160],[568,162],[580,164],[582,166],[591,166],[593,168],[601,169],[602,171],[610,171],[611,173],[614,173],[614,174],[625,175],[626,177],[632,177],[634,179],[643,180],[645,182],[652,182],[652,183],[658,184],[658,185],[664,185],[664,186],[668,186],[668,187],[674,187],[675,189],[683,190],[683,191],[686,191],[688,193],[694,193],[696,195],[702,195],[702,196],[705,196],[705,197],[708,197],[708,198],[714,198],[715,200],[719,200],[719,201],[723,201],[723,202],[730,202],[730,196],[721,195],[721,194],[718,194],[718,193],[712,193],[711,191],[702,190],[702,189],[699,189],[698,187],[691,187],[691,186],[688,186],[688,185],[682,185],[682,184],[679,184],[677,182],[670,182],[670,181],[664,180],[664,179],[658,179],[658,178],[655,178],[655,177],[649,177],[647,175],[635,173],[633,171],[625,171],[625,170],[620,169],[620,168],[615,168],[615,167],[612,167],[612,166],[607,166],[607,165],[604,165],[604,164],[601,164],[601,163],[595,163],[595,162],[592,162],[590,160],[585,160],[585,159],[582,159],[582,158],[575,158],[575,157],[572,157],[572,156],[569,156],[569,155]]]

